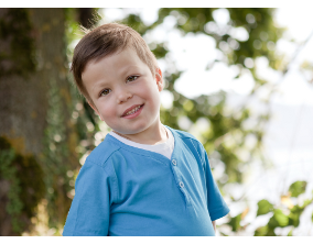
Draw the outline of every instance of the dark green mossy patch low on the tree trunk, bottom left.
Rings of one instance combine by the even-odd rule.
[[[11,218],[12,231],[20,235],[30,230],[30,219],[35,217],[36,206],[44,197],[43,170],[34,156],[17,154],[9,141],[2,136],[0,162],[1,185],[7,181],[10,186],[8,192],[1,192],[1,202],[7,202],[4,211]],[[3,190],[2,186],[1,191]],[[7,196],[6,200],[3,196]],[[3,218],[6,217],[1,214],[0,225],[6,223]]]

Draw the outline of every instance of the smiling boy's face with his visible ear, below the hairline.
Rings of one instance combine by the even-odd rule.
[[[89,62],[82,78],[100,119],[116,132],[134,135],[160,123],[163,80],[160,70],[155,74],[136,51],[126,48]]]

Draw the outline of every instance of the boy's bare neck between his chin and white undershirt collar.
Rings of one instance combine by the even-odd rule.
[[[166,129],[163,124],[161,124],[161,122],[158,124],[156,130],[154,130],[154,132],[143,131],[138,134],[121,134],[117,131],[114,132],[129,141],[147,145],[161,144],[166,142],[166,140],[169,138]]]

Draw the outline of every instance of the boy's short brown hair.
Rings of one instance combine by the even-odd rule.
[[[153,77],[159,68],[156,58],[149,49],[141,35],[133,29],[119,23],[102,24],[94,30],[84,29],[86,35],[74,48],[71,71],[84,97],[93,103],[82,79],[82,74],[88,62],[99,60],[126,47],[132,47],[139,58],[148,65]]]

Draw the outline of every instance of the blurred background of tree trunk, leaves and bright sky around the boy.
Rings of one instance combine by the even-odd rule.
[[[313,235],[310,8],[0,9],[0,235],[62,235],[110,131],[68,69],[79,25],[108,22],[156,56],[162,122],[204,144],[230,208],[217,235]]]

